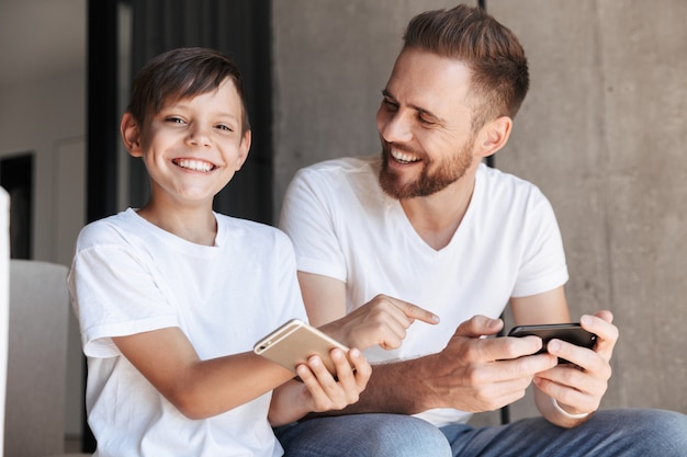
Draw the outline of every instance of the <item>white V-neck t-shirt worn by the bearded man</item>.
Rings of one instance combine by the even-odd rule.
[[[300,271],[346,283],[349,312],[386,294],[441,318],[438,325],[414,323],[397,350],[370,349],[370,362],[439,352],[461,322],[475,315],[497,318],[510,297],[567,281],[555,216],[534,185],[481,164],[460,227],[437,251],[379,186],[380,164],[379,157],[348,158],[299,171],[280,220]],[[419,416],[440,426],[470,414],[442,409]]]

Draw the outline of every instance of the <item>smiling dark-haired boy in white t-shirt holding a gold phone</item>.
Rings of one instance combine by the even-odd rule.
[[[354,369],[334,350],[336,378],[315,356],[296,382],[251,352],[306,317],[288,238],[212,210],[250,147],[237,68],[203,48],[154,58],[134,80],[121,134],[146,165],[150,199],[87,226],[68,279],[97,455],[281,455],[272,426],[357,401],[371,368],[359,350],[348,356]]]

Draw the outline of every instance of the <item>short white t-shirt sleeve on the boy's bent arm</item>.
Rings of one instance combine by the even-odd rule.
[[[69,289],[79,319],[83,352],[113,357],[112,336],[178,327],[173,304],[153,272],[121,245],[100,244],[77,252]]]

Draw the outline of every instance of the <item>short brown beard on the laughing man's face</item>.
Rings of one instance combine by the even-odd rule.
[[[423,159],[423,171],[415,181],[402,184],[401,175],[388,167],[391,151],[390,145],[382,140],[382,168],[380,169],[380,186],[392,198],[405,199],[414,197],[425,197],[444,190],[450,184],[460,180],[472,165],[472,147],[474,138],[470,138],[461,150],[449,159],[439,163],[435,171],[429,169],[435,164]]]

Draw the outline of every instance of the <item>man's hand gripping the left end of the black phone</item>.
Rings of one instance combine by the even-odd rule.
[[[556,365],[553,354],[530,355],[541,349],[538,336],[482,338],[497,334],[503,324],[475,316],[460,324],[440,353],[424,357],[425,389],[431,392],[427,405],[496,410],[522,398],[536,374]]]

